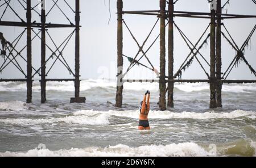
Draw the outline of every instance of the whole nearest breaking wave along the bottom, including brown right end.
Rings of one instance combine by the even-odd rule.
[[[108,146],[105,148],[89,147],[84,149],[33,149],[27,152],[5,152],[0,153],[1,157],[171,157],[171,156],[255,156],[255,142],[241,140],[233,144],[210,144],[203,147],[194,142],[168,145],[145,145],[130,147],[127,145]]]

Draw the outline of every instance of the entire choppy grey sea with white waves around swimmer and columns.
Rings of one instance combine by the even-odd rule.
[[[138,131],[138,106],[151,91],[150,131]],[[157,83],[84,80],[85,104],[70,104],[72,82],[0,83],[0,156],[256,156],[256,85],[224,85],[224,108],[210,110],[207,83],[175,85],[175,108],[158,111]],[[45,146],[44,146],[44,145]],[[45,147],[45,148],[44,148]],[[41,150],[39,150],[41,148]]]

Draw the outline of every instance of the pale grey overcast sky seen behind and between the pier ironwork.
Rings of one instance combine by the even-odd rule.
[[[109,0],[81,0],[81,33],[80,33],[80,55],[81,55],[81,78],[115,78],[117,74],[117,15],[115,14],[116,10],[116,0],[110,0],[110,12],[111,19],[109,20]],[[36,5],[40,1],[32,0],[32,6]],[[75,1],[67,0],[70,3],[71,7],[75,9]],[[226,1],[222,1],[225,3]],[[0,1],[2,4],[3,1]],[[51,9],[53,2],[52,0],[46,1],[46,10]],[[74,23],[75,16],[73,12],[68,8],[64,1],[59,1],[57,3],[61,9],[65,12],[71,22]],[[23,20],[26,20],[26,11],[16,0],[11,0],[10,5],[13,9],[20,15]],[[26,4],[23,3],[24,6]],[[106,6],[105,6],[106,5]],[[6,5],[0,7],[0,13],[4,11]],[[40,12],[38,8],[35,8],[36,11]],[[159,1],[158,0],[123,0],[123,10],[159,10]],[[179,0],[175,5],[175,10],[178,11],[201,11],[209,12],[209,3],[207,0]],[[230,5],[226,5],[223,12],[228,14],[249,14],[256,15],[256,5],[251,0],[230,0]],[[36,12],[32,12],[32,20],[40,22],[40,17]],[[155,16],[135,16],[135,15],[124,15],[126,23],[130,27],[131,31],[137,37],[139,43],[143,43],[143,40],[146,38],[148,32],[150,32],[152,26],[156,22]],[[3,21],[17,21],[20,19],[15,16],[14,12],[7,8],[5,15],[2,18]],[[68,24],[68,20],[61,14],[60,10],[55,6],[51,12],[49,12],[47,17],[47,23],[65,23]],[[193,18],[175,18],[175,23],[180,29],[191,39],[193,43],[196,43],[197,39],[201,36],[201,33],[208,26],[209,19],[193,19]],[[225,26],[228,28],[229,32],[233,36],[234,40],[237,42],[240,47],[245,41],[246,37],[249,35],[250,31],[256,24],[256,19],[226,19],[224,20]],[[24,28],[17,27],[0,27],[0,32],[3,32],[3,35],[7,40],[13,41],[19,33],[21,33]],[[34,28],[35,32],[38,32],[38,28]],[[60,45],[62,41],[73,31],[72,28],[60,28],[60,29],[49,29],[49,34],[53,37],[56,45]],[[128,56],[134,57],[138,51],[137,45],[134,43],[129,32],[124,27],[123,28],[123,53]],[[181,63],[184,61],[189,53],[189,49],[184,41],[181,39],[178,31],[175,29],[175,70],[179,68]],[[205,37],[208,35],[209,30]],[[159,34],[159,24],[155,27],[155,30],[152,32],[150,39],[148,39],[147,44],[144,49],[146,50],[156,36]],[[39,34],[40,35],[40,34]],[[34,33],[32,33],[34,36]],[[67,48],[63,51],[63,56],[69,62],[69,65],[74,69],[75,62],[75,36],[72,37],[71,41],[67,45]],[[167,41],[167,39],[166,39]],[[222,72],[225,72],[226,68],[232,61],[235,56],[235,52],[226,42],[225,39],[222,39]],[[47,44],[49,47],[55,51],[55,46],[51,43],[51,40],[47,36]],[[209,44],[209,43],[208,43]],[[256,32],[254,33],[249,46],[245,50],[245,57],[247,61],[256,69]],[[16,45],[16,49],[20,50],[26,45],[26,32],[20,39],[20,43]],[[209,60],[209,45],[201,50],[203,56]],[[50,56],[51,52],[47,49],[47,58]],[[22,52],[22,56],[26,57],[26,49]],[[159,69],[159,41],[157,41],[154,47],[147,53],[147,56],[150,58],[152,64],[155,68]],[[167,56],[167,53],[166,53]],[[0,58],[2,64],[3,58]],[[167,60],[167,57],[166,57]],[[24,72],[26,72],[26,64],[24,61],[18,57],[18,61],[22,66]],[[50,60],[47,64],[47,69],[51,67],[54,59]],[[167,60],[168,61],[168,60]],[[32,62],[35,69],[40,67],[40,40],[36,38],[32,44]],[[201,61],[203,62],[203,61]],[[48,78],[72,78],[69,75],[65,67],[60,63],[53,66],[51,72],[48,74]],[[145,59],[142,60],[142,63],[147,64]],[[125,69],[129,65],[129,62],[124,58]],[[148,65],[148,64],[147,64]],[[204,67],[209,72],[209,66],[203,63]],[[3,72],[0,74],[0,78],[23,78],[24,75],[20,73],[14,65],[9,65]],[[134,69],[130,71],[127,78],[155,78],[155,74],[148,72],[147,69],[144,69],[140,66],[135,66]],[[35,78],[39,78],[35,76]],[[201,70],[199,64],[196,60],[193,62],[191,67],[183,73],[183,78],[192,79],[192,78],[201,78],[205,79],[206,75],[203,70]],[[250,70],[241,62],[238,68],[235,68],[232,73],[230,73],[229,79],[255,79],[255,76],[250,73]]]

